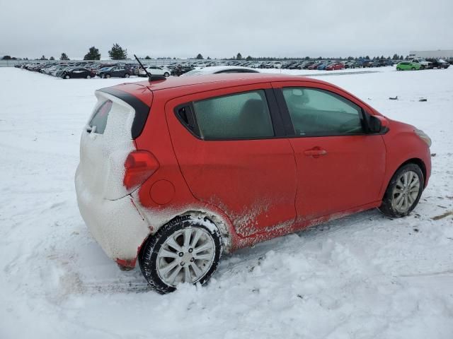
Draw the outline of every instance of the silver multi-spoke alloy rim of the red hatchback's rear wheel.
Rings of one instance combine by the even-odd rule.
[[[185,227],[171,234],[156,258],[157,274],[164,283],[197,283],[210,270],[215,257],[211,234],[200,227]]]

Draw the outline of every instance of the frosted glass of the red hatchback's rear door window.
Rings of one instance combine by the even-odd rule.
[[[202,138],[265,138],[274,136],[263,90],[194,102]]]

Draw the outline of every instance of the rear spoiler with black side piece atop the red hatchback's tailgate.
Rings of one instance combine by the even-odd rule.
[[[113,87],[101,88],[100,90],[98,90],[98,92],[113,95],[114,97],[117,97],[118,99],[126,102],[127,105],[132,106],[132,108],[135,110],[135,116],[134,121],[132,122],[131,136],[132,139],[138,138],[140,134],[142,134],[144,124],[146,124],[147,122],[149,109],[151,109],[151,106],[148,106],[147,104],[142,102],[142,100],[139,100],[139,98],[135,97],[134,95],[122,90],[118,90],[117,88]],[[149,93],[149,95],[152,94]]]

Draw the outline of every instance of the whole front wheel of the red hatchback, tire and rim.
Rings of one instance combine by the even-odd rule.
[[[387,186],[379,210],[394,218],[408,215],[417,206],[424,186],[425,179],[418,165],[400,167]]]

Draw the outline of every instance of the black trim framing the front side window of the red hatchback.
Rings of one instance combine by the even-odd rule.
[[[311,89],[311,90],[321,90],[327,93],[332,93],[334,96],[337,95],[338,97],[341,97],[343,100],[347,102],[351,102],[352,105],[355,105],[360,108],[360,121],[362,123],[362,129],[363,131],[360,133],[350,133],[350,134],[341,134],[341,133],[332,133],[332,134],[320,134],[317,136],[299,136],[296,134],[294,131],[294,125],[292,124],[291,120],[291,115],[289,114],[289,109],[286,105],[285,97],[283,95],[283,88],[306,88],[306,89]],[[355,102],[352,102],[349,100],[347,97],[343,97],[343,95],[339,95],[338,93],[333,92],[332,90],[326,90],[325,88],[317,88],[317,87],[310,87],[310,86],[282,86],[279,88],[275,88],[275,95],[277,97],[277,102],[280,107],[280,112],[282,113],[282,119],[285,124],[285,130],[287,133],[287,138],[325,138],[326,136],[367,136],[367,135],[376,135],[376,134],[382,134],[380,133],[370,133],[369,132],[369,126],[368,126],[368,121],[369,121],[369,116],[368,113],[365,112],[362,106],[357,105]]]

